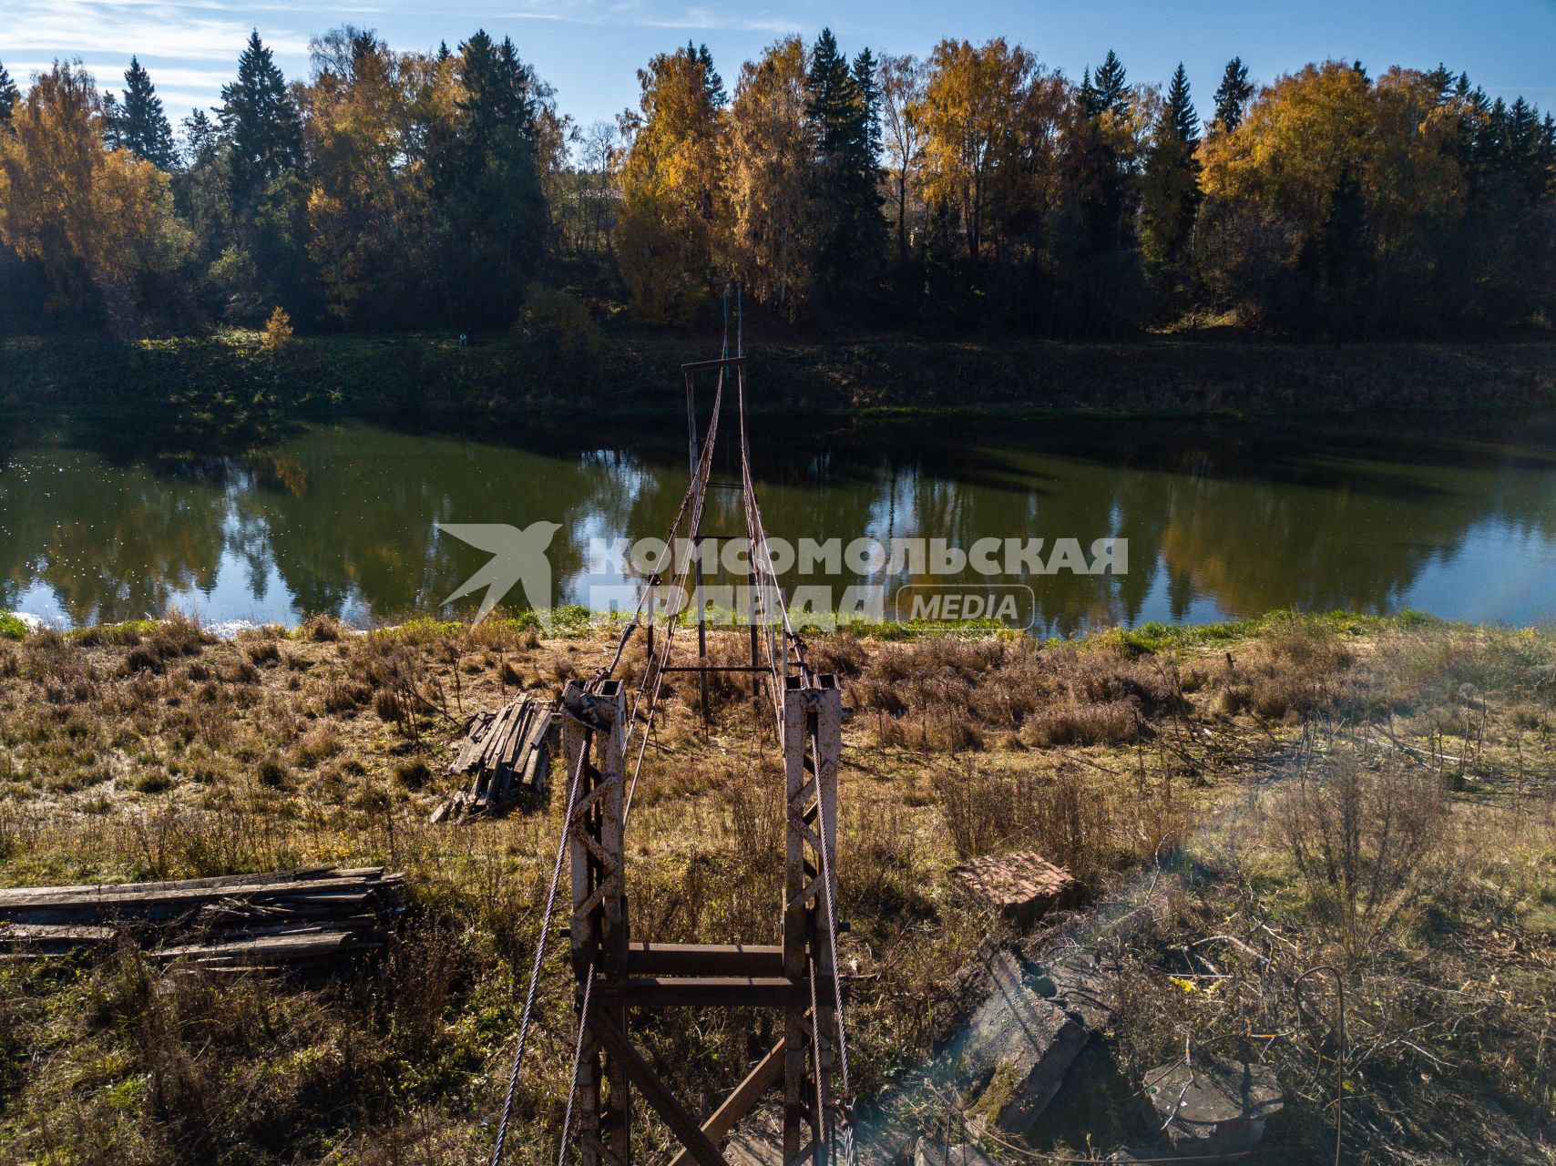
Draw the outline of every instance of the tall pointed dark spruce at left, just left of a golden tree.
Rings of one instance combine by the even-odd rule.
[[[238,58],[238,79],[221,87],[219,115],[232,143],[233,204],[251,204],[269,182],[302,165],[302,118],[257,30]]]

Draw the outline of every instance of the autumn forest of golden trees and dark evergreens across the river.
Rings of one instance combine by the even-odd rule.
[[[512,40],[344,26],[288,81],[258,34],[179,132],[132,61],[0,67],[0,328],[686,325],[742,280],[815,327],[1419,336],[1556,321],[1556,123],[1464,75],[1327,61],[1201,121],[1183,67],[1080,81],[1021,45],[783,37],[727,86],[654,56],[615,123]],[[1209,106],[1206,106],[1209,111]],[[527,310],[526,310],[527,304]],[[596,308],[596,314],[599,311]]]

